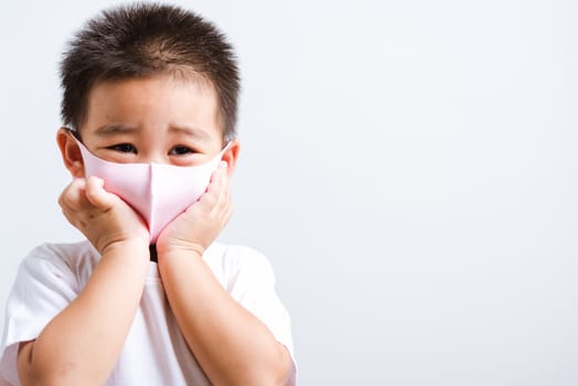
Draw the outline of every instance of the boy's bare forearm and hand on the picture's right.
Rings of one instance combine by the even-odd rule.
[[[282,385],[287,349],[238,304],[202,259],[231,216],[225,168],[207,192],[159,237],[159,270],[179,326],[215,385]]]

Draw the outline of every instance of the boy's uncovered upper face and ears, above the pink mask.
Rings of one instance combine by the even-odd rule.
[[[203,81],[159,75],[101,82],[90,90],[87,107],[78,131],[86,148],[107,161],[196,165],[224,146],[216,95]],[[74,144],[62,131],[57,140],[65,163],[73,175],[82,176],[84,171],[78,175],[78,168],[66,162],[66,148]],[[229,168],[237,151],[234,141],[223,157]]]

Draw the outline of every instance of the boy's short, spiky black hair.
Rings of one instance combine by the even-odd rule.
[[[194,12],[158,3],[105,10],[68,43],[61,63],[64,125],[78,130],[96,83],[159,74],[207,79],[217,96],[223,136],[235,136],[240,86],[232,45]]]

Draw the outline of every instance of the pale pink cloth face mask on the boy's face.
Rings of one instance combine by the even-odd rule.
[[[105,190],[128,203],[147,222],[150,244],[179,214],[206,191],[228,144],[214,159],[195,167],[161,163],[117,163],[94,156],[76,139],[86,176],[105,181]]]

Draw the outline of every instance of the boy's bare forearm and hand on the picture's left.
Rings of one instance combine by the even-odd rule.
[[[78,297],[35,341],[20,345],[23,385],[101,385],[120,354],[144,285],[148,233],[101,181],[75,180],[61,195],[68,221],[101,258]]]

